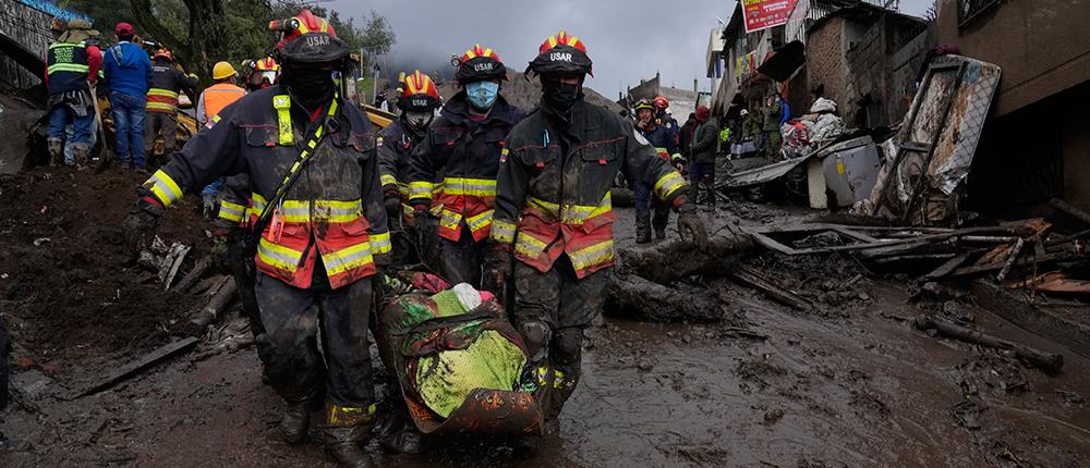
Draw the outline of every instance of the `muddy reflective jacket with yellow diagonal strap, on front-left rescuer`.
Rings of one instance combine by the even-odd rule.
[[[370,276],[376,271],[374,256],[390,251],[371,122],[340,101],[312,122],[282,93],[272,86],[225,108],[215,125],[144,183],[142,193],[169,206],[219,176],[246,174],[254,220],[306,149],[310,162],[282,202],[270,208],[276,214],[262,231],[257,269],[303,288],[311,286],[319,260],[334,288]],[[307,148],[312,128],[326,115],[322,139]]]

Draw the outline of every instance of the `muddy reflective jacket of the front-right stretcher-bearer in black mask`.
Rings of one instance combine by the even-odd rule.
[[[614,264],[609,189],[618,171],[671,205],[686,183],[628,120],[582,100],[570,119],[561,133],[538,110],[511,131],[492,239],[513,244],[516,258],[542,272],[567,254],[585,278]]]

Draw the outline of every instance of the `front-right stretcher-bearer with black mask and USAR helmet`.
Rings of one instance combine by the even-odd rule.
[[[528,73],[541,78],[541,108],[514,126],[500,159],[494,262],[513,269],[514,318],[529,350],[547,431],[580,378],[583,330],[601,315],[614,264],[609,189],[618,171],[654,187],[678,210],[682,236],[706,232],[686,183],[632,124],[583,99],[586,47],[564,30],[542,44]],[[505,251],[506,250],[506,251]],[[510,261],[513,250],[516,261]],[[502,260],[506,260],[502,261]]]

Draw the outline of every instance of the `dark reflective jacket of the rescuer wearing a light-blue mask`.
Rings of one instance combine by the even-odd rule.
[[[499,96],[488,115],[474,121],[465,93],[459,93],[428,127],[409,158],[409,200],[413,206],[431,204],[439,215],[439,236],[457,242],[464,220],[475,241],[488,237],[500,153],[523,115]],[[443,180],[437,181],[440,170]],[[441,186],[435,187],[438,182]]]

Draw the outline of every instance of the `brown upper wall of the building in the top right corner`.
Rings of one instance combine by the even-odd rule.
[[[1001,1],[964,26],[957,0],[940,1],[938,44],[1003,69],[995,115],[1090,81],[1086,0]]]

